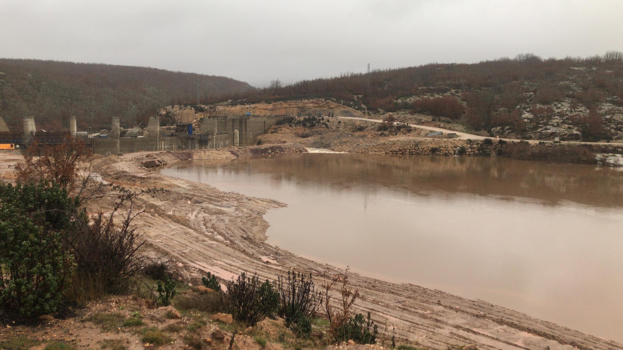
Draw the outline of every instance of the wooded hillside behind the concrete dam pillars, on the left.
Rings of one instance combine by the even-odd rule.
[[[198,81],[198,85],[197,85]],[[146,67],[42,60],[0,59],[0,116],[13,130],[34,116],[39,129],[61,130],[69,116],[78,129],[146,122],[158,108],[221,94],[244,93],[250,85],[224,76],[198,75]]]

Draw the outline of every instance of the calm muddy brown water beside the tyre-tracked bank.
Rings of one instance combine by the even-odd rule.
[[[272,198],[268,242],[623,341],[623,172],[485,157],[295,154],[165,175]]]

